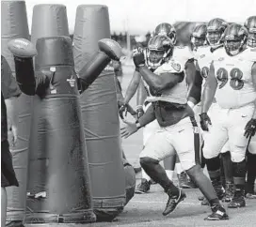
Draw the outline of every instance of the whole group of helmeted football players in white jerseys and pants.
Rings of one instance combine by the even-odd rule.
[[[168,194],[164,216],[186,197],[181,188],[193,183],[201,204],[211,206],[206,219],[229,219],[221,202],[239,208],[246,197],[256,198],[256,16],[244,25],[219,18],[196,24],[190,40],[181,45],[174,26],[161,23],[148,47],[134,50],[120,133],[127,138],[143,128],[136,192],[158,183]],[[128,121],[124,114],[136,91],[136,120]],[[180,187],[172,181],[175,166],[178,178],[189,179]]]

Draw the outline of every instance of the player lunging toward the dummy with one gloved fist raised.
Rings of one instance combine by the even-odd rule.
[[[120,129],[120,133],[122,137],[127,138],[154,119],[160,125],[160,129],[151,136],[139,157],[141,167],[168,194],[164,216],[171,213],[185,198],[184,191],[174,186],[159,164],[159,161],[177,152],[184,170],[211,204],[213,213],[206,219],[228,219],[210,180],[196,163],[195,154],[199,147],[195,147],[198,142],[194,141],[194,131],[198,131],[198,127],[194,112],[187,105],[184,68],[178,67],[180,63],[172,58],[172,51],[173,45],[168,37],[155,36],[149,42],[149,54],[146,59],[144,53],[139,50],[134,54],[136,70],[153,93],[152,97],[147,98],[152,105],[136,122],[125,120],[126,127]],[[158,68],[152,72],[146,66],[146,60],[158,64]],[[200,98],[200,89],[192,87],[190,96],[196,100]]]

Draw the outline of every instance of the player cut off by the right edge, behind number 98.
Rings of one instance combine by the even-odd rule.
[[[256,54],[256,16],[251,16],[245,22],[245,27],[248,29],[248,49]],[[247,187],[246,197],[249,199],[256,199],[254,191],[254,182],[256,176],[256,136],[250,139],[248,144],[248,159],[247,159]]]

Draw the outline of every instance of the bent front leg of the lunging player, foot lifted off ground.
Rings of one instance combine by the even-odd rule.
[[[171,132],[166,129],[159,129],[151,137],[139,156],[141,167],[168,194],[168,203],[163,212],[164,216],[171,213],[177,204],[185,198],[184,192],[169,180],[165,169],[159,164],[162,159],[175,154],[172,144],[169,143],[168,134],[171,134]]]

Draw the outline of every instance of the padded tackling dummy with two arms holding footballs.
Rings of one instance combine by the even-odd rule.
[[[111,59],[119,60],[120,45],[109,38],[100,40],[100,51],[81,69],[79,79],[71,38],[39,38],[37,50],[18,38],[8,48],[14,55],[20,89],[40,99],[33,113],[37,133],[30,137],[38,144],[37,150],[31,150],[28,171],[27,207],[32,212],[26,214],[25,222],[93,222],[78,85],[84,92]]]

